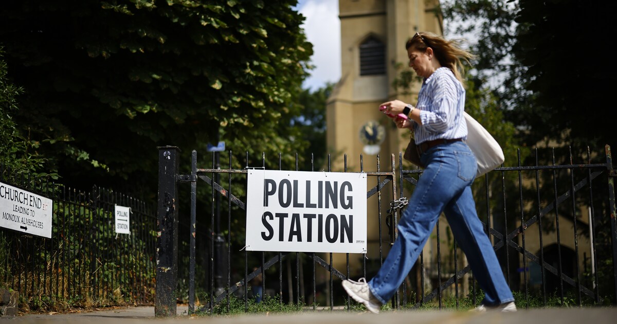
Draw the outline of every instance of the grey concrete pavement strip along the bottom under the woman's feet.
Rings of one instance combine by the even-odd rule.
[[[216,316],[188,316],[188,307],[178,307],[178,315],[170,318],[154,317],[154,307],[122,307],[111,310],[73,314],[26,314],[16,317],[1,317],[0,323],[7,324],[152,324],[175,323],[189,320],[193,324],[374,324],[374,323],[500,323],[500,324],[614,324],[617,323],[616,307],[594,308],[551,308],[519,310],[515,313],[488,312],[476,314],[455,310],[388,310],[381,314],[368,312],[347,312],[346,310],[307,310],[307,312],[285,314],[241,314]],[[113,321],[113,323],[112,323]]]

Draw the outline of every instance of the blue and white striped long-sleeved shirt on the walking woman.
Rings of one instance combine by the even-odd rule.
[[[416,144],[433,139],[467,139],[465,88],[447,67],[424,79],[418,93],[422,125],[414,123]]]

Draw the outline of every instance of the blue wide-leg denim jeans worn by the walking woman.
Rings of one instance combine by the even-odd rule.
[[[427,167],[398,225],[399,236],[379,272],[368,282],[371,293],[386,304],[412,269],[437,218],[444,212],[479,286],[485,305],[514,301],[491,241],[476,214],[471,183],[476,157],[464,142],[431,147],[420,157]]]

